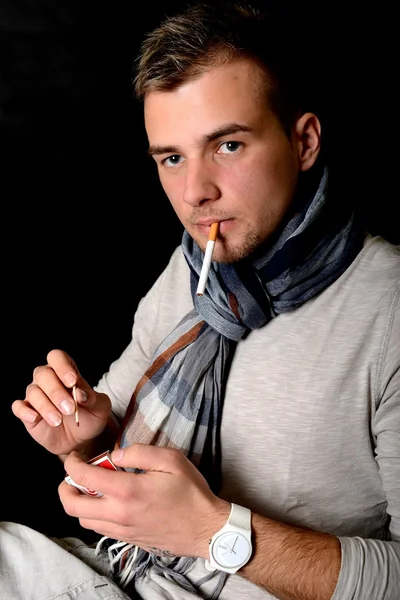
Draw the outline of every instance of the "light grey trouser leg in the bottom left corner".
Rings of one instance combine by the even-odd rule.
[[[1,600],[126,600],[109,577],[107,554],[76,538],[57,540],[0,522]]]

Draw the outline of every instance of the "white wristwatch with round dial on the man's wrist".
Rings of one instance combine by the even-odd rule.
[[[251,554],[251,512],[232,504],[227,522],[210,540],[210,559],[206,560],[206,568],[236,573],[250,560]]]

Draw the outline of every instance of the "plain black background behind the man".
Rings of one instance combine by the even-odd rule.
[[[305,17],[299,66],[318,56],[341,182],[370,229],[400,243],[395,9],[320,4],[296,3]],[[0,4],[0,519],[52,535],[79,532],[57,495],[63,467],[31,441],[11,403],[55,347],[95,384],[180,241],[130,86],[144,32],[177,6]]]

